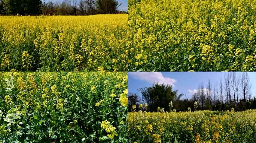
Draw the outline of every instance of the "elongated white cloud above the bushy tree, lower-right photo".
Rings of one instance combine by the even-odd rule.
[[[164,77],[161,72],[129,72],[129,76],[134,79],[144,80],[148,83],[159,83],[165,85],[174,85],[175,79]]]

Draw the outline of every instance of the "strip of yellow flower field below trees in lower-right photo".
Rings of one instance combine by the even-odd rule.
[[[129,143],[255,143],[256,110],[129,112]]]

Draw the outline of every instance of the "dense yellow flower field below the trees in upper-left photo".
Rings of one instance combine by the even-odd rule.
[[[0,16],[0,71],[127,71],[128,15]]]

